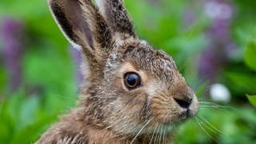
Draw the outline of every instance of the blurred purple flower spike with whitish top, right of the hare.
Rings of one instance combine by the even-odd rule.
[[[233,51],[230,49],[230,43],[233,43],[230,37],[233,7],[220,0],[206,1],[205,14],[212,19],[212,24],[206,30],[210,44],[198,60],[198,73],[202,78],[214,82],[227,58],[230,58],[231,53],[234,54],[234,45]]]

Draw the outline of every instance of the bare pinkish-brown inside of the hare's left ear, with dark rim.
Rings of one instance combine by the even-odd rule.
[[[86,43],[92,47],[93,38],[89,25],[82,16],[82,3],[74,0],[64,2],[50,1],[49,3],[54,18],[66,38],[70,40],[72,44],[82,46],[84,43],[82,41],[86,41]],[[79,38],[78,33],[83,34],[86,39]]]

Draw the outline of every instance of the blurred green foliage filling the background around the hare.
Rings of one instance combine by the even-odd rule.
[[[201,96],[200,101],[206,101],[203,98],[207,98],[208,83],[198,75],[198,56],[210,43],[205,31],[211,24],[202,9],[204,2],[126,0],[138,35],[174,58],[186,80]],[[230,89],[232,101],[228,106],[215,103],[202,106],[198,117],[178,130],[175,143],[256,141],[255,109],[246,98],[246,94],[256,94],[256,33],[252,34],[256,29],[256,1],[227,2],[233,2],[235,8],[230,35],[238,51],[222,67],[217,82]],[[184,17],[190,10],[194,21],[187,23]],[[0,23],[4,18],[18,19],[26,30],[23,82],[18,91],[8,90],[8,71],[0,66],[0,143],[31,143],[59,114],[75,106],[76,67],[70,46],[50,16],[46,1],[1,0]]]

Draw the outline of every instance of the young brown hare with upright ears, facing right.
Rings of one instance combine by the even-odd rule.
[[[174,60],[138,38],[122,0],[49,0],[82,52],[79,106],[38,143],[170,143],[198,101]]]

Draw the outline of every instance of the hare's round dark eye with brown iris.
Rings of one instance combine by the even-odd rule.
[[[134,89],[135,87],[141,85],[141,78],[136,73],[126,73],[124,82],[128,89]]]

